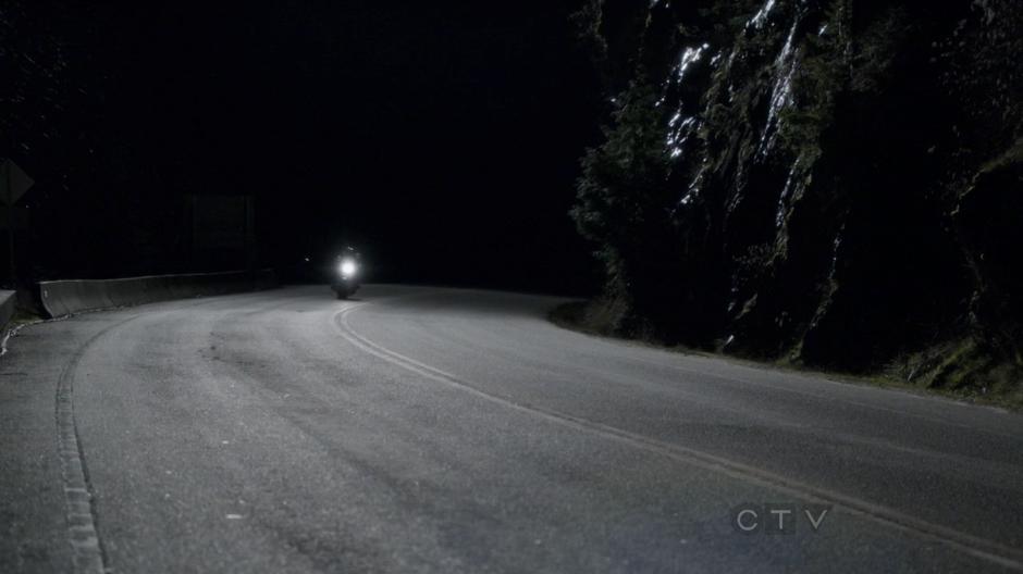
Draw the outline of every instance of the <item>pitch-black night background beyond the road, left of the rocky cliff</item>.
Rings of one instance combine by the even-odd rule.
[[[584,290],[566,212],[600,90],[576,8],[5,0],[22,278],[236,267],[197,255],[189,198],[250,196],[257,264],[353,244],[377,278]]]

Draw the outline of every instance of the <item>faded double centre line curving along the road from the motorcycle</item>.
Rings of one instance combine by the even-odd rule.
[[[717,454],[698,449],[664,442],[636,433],[616,428],[603,423],[572,416],[554,410],[543,409],[532,404],[522,404],[505,397],[492,395],[481,390],[476,385],[466,382],[451,373],[430,366],[426,363],[387,349],[380,344],[359,335],[349,324],[348,315],[353,311],[365,307],[365,303],[355,304],[334,313],[332,323],[341,336],[355,347],[387,361],[406,371],[423,377],[444,383],[448,386],[467,391],[481,399],[510,408],[520,412],[541,416],[551,422],[568,426],[578,430],[595,433],[619,442],[628,444],[643,450],[654,452],[683,463],[693,464],[704,470],[727,474],[747,483],[754,483],[775,490],[784,491],[796,498],[812,502],[823,502],[839,507],[850,514],[861,516],[882,525],[939,542],[963,553],[998,564],[999,566],[1023,572],[1023,552],[1002,544],[979,538],[939,524],[921,520],[898,510],[861,500],[826,488],[819,488],[799,481],[793,481],[769,471],[732,461]]]

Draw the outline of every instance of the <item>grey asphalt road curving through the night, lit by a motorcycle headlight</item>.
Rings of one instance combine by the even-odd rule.
[[[1023,416],[594,338],[557,302],[299,287],[26,327],[0,572],[1023,569]]]

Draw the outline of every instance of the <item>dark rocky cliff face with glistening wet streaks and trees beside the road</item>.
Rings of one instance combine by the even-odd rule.
[[[613,96],[574,211],[609,328],[850,371],[915,357],[907,376],[948,371],[938,348],[1020,364],[1014,0],[595,0],[578,18]]]

